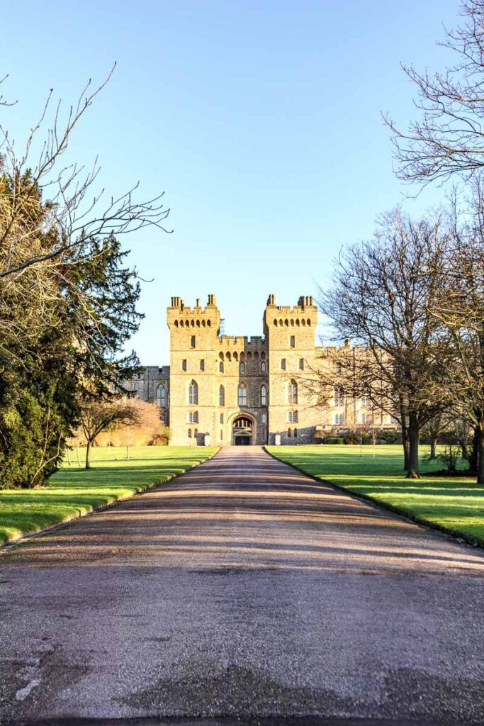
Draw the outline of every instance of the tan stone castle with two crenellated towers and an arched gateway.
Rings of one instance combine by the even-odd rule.
[[[269,295],[263,336],[251,338],[221,335],[215,295],[193,308],[173,297],[166,312],[170,365],[146,367],[131,388],[157,402],[170,444],[308,444],[366,420],[364,401],[348,406],[335,391],[323,411],[303,385],[331,350],[315,345],[318,309],[311,296],[290,307]],[[391,425],[390,417],[379,417],[381,428]]]

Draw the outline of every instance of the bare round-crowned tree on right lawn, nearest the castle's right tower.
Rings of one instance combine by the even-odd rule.
[[[338,338],[364,346],[339,359],[342,385],[399,421],[410,478],[419,477],[419,431],[446,406],[430,309],[447,248],[440,216],[414,222],[397,209],[372,240],[343,251],[319,303]]]

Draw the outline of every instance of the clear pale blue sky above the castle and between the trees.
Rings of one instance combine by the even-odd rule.
[[[49,88],[66,104],[86,79],[118,68],[70,154],[116,194],[140,180],[165,190],[167,235],[126,237],[146,319],[141,362],[166,364],[165,307],[215,293],[226,333],[261,335],[269,292],[313,294],[342,245],[368,237],[378,213],[419,213],[439,189],[405,200],[380,110],[405,125],[414,89],[400,62],[442,68],[435,45],[457,0],[288,2],[50,0],[1,12],[0,109],[19,141]]]

